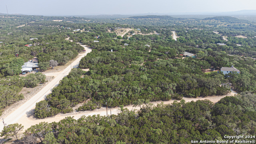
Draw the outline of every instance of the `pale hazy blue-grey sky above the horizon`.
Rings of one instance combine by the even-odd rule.
[[[0,0],[0,13],[44,16],[232,12],[256,10],[256,0]]]

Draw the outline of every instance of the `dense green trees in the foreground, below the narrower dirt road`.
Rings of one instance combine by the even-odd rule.
[[[227,96],[216,104],[209,100],[141,106],[138,112],[120,106],[118,115],[66,117],[60,122],[40,122],[25,131],[25,144],[188,144],[191,140],[228,140],[224,136],[254,135],[255,94]],[[7,132],[8,128],[16,128]],[[8,125],[1,136],[15,138],[19,124]],[[236,138],[234,140],[237,140]],[[241,138],[239,140],[256,140]]]

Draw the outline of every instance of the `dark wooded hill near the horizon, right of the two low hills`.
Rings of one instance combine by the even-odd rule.
[[[203,20],[219,20],[221,22],[228,22],[228,23],[250,23],[248,20],[241,20],[231,16],[215,16],[212,18],[204,18]]]

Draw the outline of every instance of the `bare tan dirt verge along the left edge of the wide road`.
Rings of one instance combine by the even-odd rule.
[[[30,98],[32,98],[36,93],[38,93],[46,84],[48,84],[54,77],[53,76],[46,76],[46,83],[39,84],[35,88],[22,88],[21,92],[19,94],[24,95],[24,99],[20,100],[4,109],[4,112],[2,113],[2,116],[0,118],[5,118],[8,116],[8,114],[12,113],[14,110],[16,110],[19,106],[24,104],[26,101],[28,101]]]

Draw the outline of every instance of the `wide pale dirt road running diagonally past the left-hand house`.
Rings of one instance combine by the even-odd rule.
[[[86,54],[92,51],[91,48],[86,47],[85,45],[81,45],[81,46],[84,47],[86,52],[80,53],[78,55],[79,57],[71,64],[72,68],[77,68],[80,60],[84,56],[86,56]],[[62,78],[68,75],[70,70],[71,70],[71,66],[68,66],[64,70],[56,73],[56,77],[51,82],[49,82],[44,88],[42,88],[42,90],[40,90],[37,94],[35,94],[32,98],[30,98],[26,103],[24,103],[22,106],[18,107],[14,112],[6,116],[4,118],[4,122],[7,125],[14,124],[16,122],[26,126],[34,125],[34,123],[29,124],[29,122],[27,121],[28,120],[27,116],[30,115],[31,112],[34,110],[36,106],[36,102],[40,102],[41,100],[44,100],[44,98],[51,93],[52,89],[59,84],[60,80],[62,80]],[[0,124],[0,131],[2,131],[3,127],[4,125]],[[25,129],[27,128],[28,127],[26,127]]]

